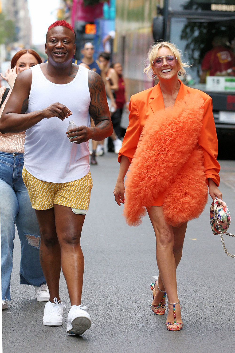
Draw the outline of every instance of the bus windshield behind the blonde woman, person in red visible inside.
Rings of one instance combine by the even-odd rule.
[[[208,22],[196,17],[171,18],[170,40],[182,50],[183,59],[193,64],[187,71],[191,83],[205,84],[206,76],[235,77],[233,22],[219,17]]]

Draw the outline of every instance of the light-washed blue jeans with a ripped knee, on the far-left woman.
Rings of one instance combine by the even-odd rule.
[[[45,283],[39,261],[40,233],[22,179],[23,153],[0,152],[0,216],[2,299],[11,300],[13,240],[15,223],[21,244],[20,283],[41,286]]]

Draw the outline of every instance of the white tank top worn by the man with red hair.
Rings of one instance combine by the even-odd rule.
[[[24,166],[35,178],[52,183],[81,179],[89,172],[88,142],[72,143],[66,131],[71,119],[77,126],[91,126],[88,69],[79,66],[73,81],[61,85],[45,78],[39,64],[31,70],[32,84],[26,113],[59,102],[73,114],[63,121],[56,116],[44,118],[26,130]]]

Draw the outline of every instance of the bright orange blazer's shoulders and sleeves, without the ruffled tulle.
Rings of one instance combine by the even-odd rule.
[[[203,125],[200,132],[198,144],[204,155],[204,167],[206,179],[211,178],[219,186],[220,166],[216,160],[218,155],[218,140],[215,129],[215,122],[212,113],[212,99],[206,93],[188,87],[180,80],[180,89],[175,102],[182,99],[188,93],[198,93],[204,100],[205,109],[203,115]],[[132,161],[141,131],[143,130],[146,119],[151,114],[156,114],[158,110],[164,109],[164,101],[159,83],[147,90],[131,96],[129,104],[129,125],[123,139],[122,148],[119,150],[118,162],[121,156],[128,157]],[[193,177],[193,175],[192,175]]]

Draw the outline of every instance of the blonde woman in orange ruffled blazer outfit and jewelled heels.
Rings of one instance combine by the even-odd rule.
[[[148,212],[159,269],[158,280],[151,284],[151,309],[163,315],[167,295],[166,328],[171,331],[183,327],[176,268],[187,221],[202,213],[208,186],[212,200],[222,196],[218,190],[220,167],[211,97],[178,79],[187,66],[172,43],[156,43],[150,48],[144,71],[153,73],[152,78],[157,77],[159,83],[131,97],[114,190],[117,204],[125,203],[129,225],[140,224]]]

